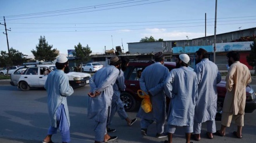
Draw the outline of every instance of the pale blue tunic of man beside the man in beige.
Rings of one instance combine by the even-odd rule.
[[[195,122],[215,120],[217,109],[217,83],[221,82],[218,67],[208,58],[195,65],[198,79],[198,100],[195,105]]]

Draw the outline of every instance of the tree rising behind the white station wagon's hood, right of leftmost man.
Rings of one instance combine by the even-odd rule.
[[[91,54],[91,48],[87,45],[86,47],[83,47],[81,43],[76,46],[74,46],[74,57],[76,57],[76,61],[81,63],[86,63],[90,60],[90,54]]]

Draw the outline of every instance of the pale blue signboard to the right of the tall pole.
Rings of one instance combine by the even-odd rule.
[[[240,51],[240,50],[251,50],[251,43],[250,42],[229,42],[229,43],[216,43],[216,51],[215,52],[229,52],[232,50]],[[214,46],[214,45],[212,45]]]

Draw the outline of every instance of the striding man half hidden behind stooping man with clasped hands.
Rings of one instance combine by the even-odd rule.
[[[108,126],[112,123],[113,116],[116,112],[118,112],[119,117],[123,120],[126,120],[126,123],[128,126],[133,125],[134,122],[136,122],[136,118],[130,120],[127,116],[127,113],[125,112],[125,108],[123,108],[123,102],[120,99],[120,91],[125,91],[125,76],[123,75],[123,71],[125,71],[126,67],[129,65],[129,58],[127,57],[120,57],[122,61],[122,65],[120,67],[120,72],[118,75],[118,78],[116,79],[115,84],[113,85],[113,97],[111,102],[111,113],[108,120]],[[106,131],[108,132],[115,132],[115,129],[110,129],[109,127],[106,127]]]

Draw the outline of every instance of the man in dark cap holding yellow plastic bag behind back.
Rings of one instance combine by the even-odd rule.
[[[148,93],[152,104],[152,111],[146,113],[140,107],[137,117],[141,118],[141,134],[147,135],[147,129],[150,124],[157,122],[157,138],[167,137],[164,132],[164,124],[166,118],[166,98],[163,92],[163,85],[169,74],[168,68],[164,63],[164,56],[162,52],[154,55],[155,63],[146,67],[140,78],[141,90]]]

